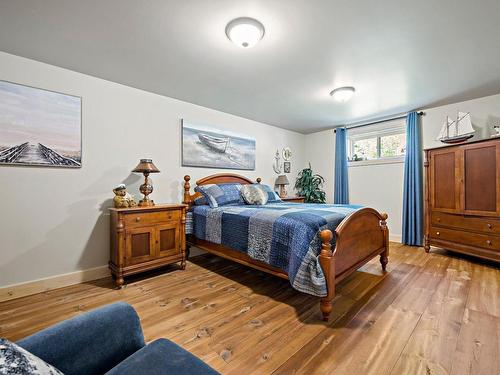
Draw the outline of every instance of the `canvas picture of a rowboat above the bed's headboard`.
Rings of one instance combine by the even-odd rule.
[[[182,166],[255,169],[255,139],[182,120]]]

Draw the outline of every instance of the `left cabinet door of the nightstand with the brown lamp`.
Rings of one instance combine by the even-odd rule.
[[[125,265],[132,265],[154,259],[155,233],[151,228],[134,228],[125,231]]]

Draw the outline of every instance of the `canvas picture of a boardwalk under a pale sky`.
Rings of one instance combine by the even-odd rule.
[[[0,81],[0,164],[81,167],[81,98]]]

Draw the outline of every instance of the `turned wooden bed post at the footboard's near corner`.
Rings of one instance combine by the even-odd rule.
[[[323,269],[323,274],[326,279],[327,295],[321,298],[319,307],[323,314],[323,320],[328,321],[332,312],[332,300],[335,297],[335,258],[333,257],[331,241],[333,239],[332,231],[329,229],[320,232],[321,237],[321,253],[319,255],[319,264]]]

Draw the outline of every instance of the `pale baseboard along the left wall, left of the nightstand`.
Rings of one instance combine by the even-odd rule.
[[[62,275],[45,277],[43,279],[27,281],[19,284],[7,285],[0,288],[0,302],[21,298],[48,290],[58,289],[65,286],[84,283],[109,277],[108,266],[89,268],[86,270],[65,273]]]

